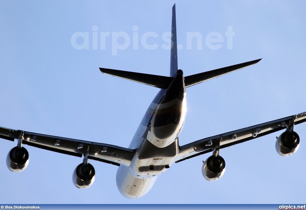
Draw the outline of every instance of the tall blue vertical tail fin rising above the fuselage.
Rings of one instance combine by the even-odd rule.
[[[176,41],[176,17],[175,4],[172,7],[172,25],[171,25],[171,54],[170,54],[170,76],[175,77],[177,72],[177,41]]]

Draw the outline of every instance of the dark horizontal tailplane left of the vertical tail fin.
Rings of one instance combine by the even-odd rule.
[[[108,74],[111,76],[116,76],[123,79],[128,79],[134,82],[150,85],[158,88],[167,88],[172,82],[172,77],[167,76],[159,76],[152,74],[144,74],[137,72],[127,72],[109,68],[100,68],[100,71],[104,74]]]

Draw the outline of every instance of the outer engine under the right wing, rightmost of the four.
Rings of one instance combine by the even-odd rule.
[[[292,155],[299,149],[300,137],[299,135],[292,131],[285,131],[282,133],[275,142],[275,149],[281,156]]]

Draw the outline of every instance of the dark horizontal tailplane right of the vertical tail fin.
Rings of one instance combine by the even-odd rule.
[[[236,64],[236,65],[233,65],[233,66],[218,68],[218,69],[211,70],[211,71],[208,71],[208,72],[202,72],[202,73],[199,73],[199,74],[185,76],[185,87],[190,87],[192,85],[196,85],[196,84],[205,82],[207,80],[216,78],[218,76],[222,76],[222,75],[228,74],[230,72],[237,71],[241,68],[252,66],[252,65],[258,63],[260,60],[261,59],[257,59],[257,60],[254,60],[254,61],[248,61],[248,62],[245,62],[245,63]]]

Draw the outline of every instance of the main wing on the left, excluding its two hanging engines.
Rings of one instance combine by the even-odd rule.
[[[129,166],[134,156],[134,150],[119,146],[0,127],[0,138],[6,140],[14,141],[15,139],[19,139],[22,134],[23,145],[34,146],[76,157],[82,157],[88,151],[88,159],[117,166],[120,166],[120,164]]]

